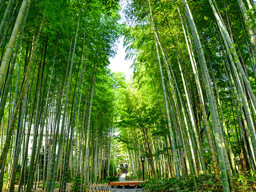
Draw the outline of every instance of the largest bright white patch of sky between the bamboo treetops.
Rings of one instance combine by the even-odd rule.
[[[114,58],[110,58],[109,69],[112,72],[123,72],[126,80],[131,80],[133,74],[132,60],[125,60],[125,48],[123,48],[123,36],[120,38],[120,42],[117,42],[117,54]]]

